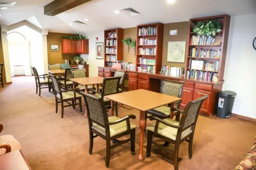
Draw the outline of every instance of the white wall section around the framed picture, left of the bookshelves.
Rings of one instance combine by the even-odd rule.
[[[96,37],[98,37],[98,41],[96,41]],[[104,31],[100,31],[97,33],[93,33],[88,35],[89,38],[89,55],[80,55],[83,60],[87,61],[89,64],[89,76],[97,77],[98,76],[98,66],[104,66],[104,60],[96,59],[96,42],[104,43]]]

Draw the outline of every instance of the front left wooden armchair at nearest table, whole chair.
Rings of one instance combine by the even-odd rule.
[[[115,80],[115,79],[114,79]],[[121,144],[131,141],[131,152],[135,155],[135,129],[136,125],[130,123],[130,118],[135,119],[135,115],[128,115],[123,118],[116,116],[108,117],[103,98],[80,92],[86,102],[88,112],[90,147],[89,154],[93,151],[93,139],[97,136],[106,140],[106,160],[105,166],[109,167],[111,149],[118,147]],[[95,133],[96,135],[93,135]],[[120,141],[111,145],[111,140],[116,138],[131,135],[130,139]]]

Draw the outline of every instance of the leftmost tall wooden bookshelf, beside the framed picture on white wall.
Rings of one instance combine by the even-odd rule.
[[[112,34],[112,36],[110,36]],[[104,30],[104,66],[111,67],[117,60],[123,60],[123,29]],[[115,42],[115,43],[114,43]],[[108,49],[113,49],[108,52]]]

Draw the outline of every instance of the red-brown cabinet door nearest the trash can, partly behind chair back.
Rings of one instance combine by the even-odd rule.
[[[201,111],[206,112],[206,113],[209,114],[210,113],[210,99],[211,99],[211,92],[210,91],[195,89],[193,100],[201,98],[204,95],[208,95],[208,98],[204,100],[204,102],[202,104],[202,107],[201,107]]]

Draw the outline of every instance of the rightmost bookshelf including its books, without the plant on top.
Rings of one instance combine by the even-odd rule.
[[[220,21],[222,31],[217,33],[215,37],[198,37],[193,29],[198,22],[214,20]],[[189,19],[188,44],[186,48],[185,76],[188,79],[212,82],[212,76],[218,77],[218,82],[223,80],[226,62],[227,41],[229,33],[230,16],[217,15],[201,18]],[[199,38],[199,41],[196,39]],[[205,38],[205,39],[204,39]],[[216,38],[216,40],[214,39]],[[195,40],[196,39],[196,40]],[[201,40],[201,41],[200,41]],[[221,41],[221,43],[220,43]],[[208,43],[207,43],[208,42]],[[198,44],[199,43],[199,44]],[[204,65],[208,64],[214,69],[192,69],[191,61],[202,60]],[[206,68],[206,67],[205,67]],[[197,77],[195,77],[195,75]],[[201,77],[201,75],[203,75]],[[201,78],[202,79],[201,79]]]

